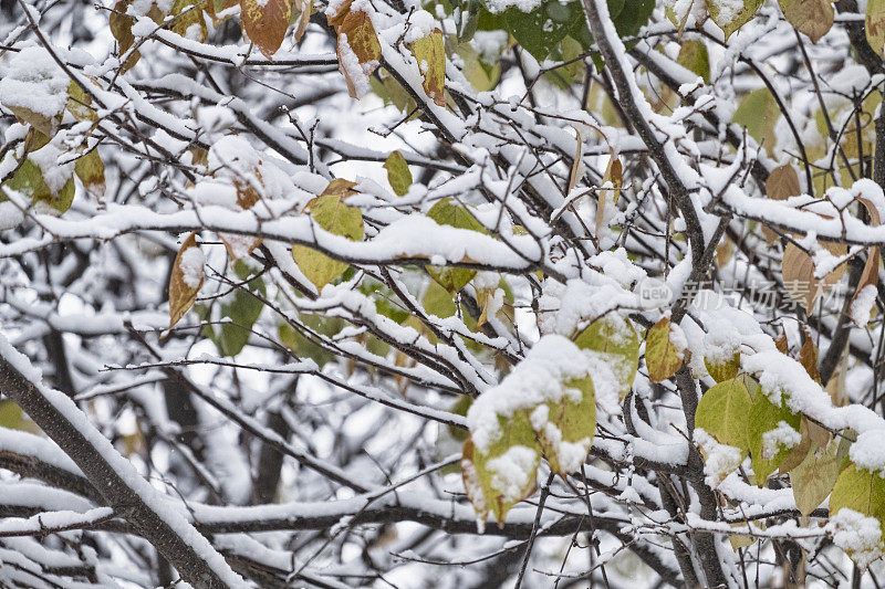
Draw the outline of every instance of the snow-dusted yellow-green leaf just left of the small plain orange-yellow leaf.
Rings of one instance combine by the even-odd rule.
[[[600,317],[581,332],[574,343],[579,348],[597,353],[608,362],[621,385],[621,398],[626,397],[639,369],[639,336],[629,319],[614,314]]]

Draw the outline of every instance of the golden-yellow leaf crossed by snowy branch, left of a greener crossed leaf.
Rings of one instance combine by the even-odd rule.
[[[363,212],[355,207],[344,204],[344,199],[353,191],[355,182],[332,180],[322,194],[308,203],[311,217],[324,230],[335,235],[343,235],[351,241],[362,241]],[[292,257],[301,272],[311,281],[316,291],[334,281],[347,270],[346,262],[333,260],[306,245],[292,245]]]

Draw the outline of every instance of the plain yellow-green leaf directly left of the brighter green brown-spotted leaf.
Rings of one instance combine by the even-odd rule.
[[[743,382],[733,378],[711,387],[698,402],[695,425],[720,444],[750,450],[748,423],[752,400]]]

